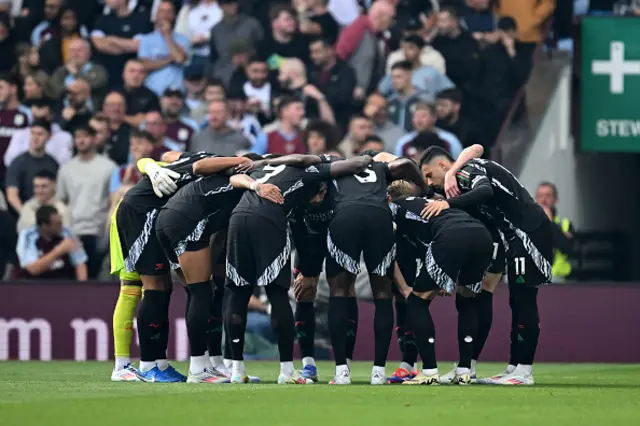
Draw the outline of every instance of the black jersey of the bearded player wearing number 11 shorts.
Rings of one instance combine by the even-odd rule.
[[[510,234],[514,228],[532,231],[547,219],[518,179],[495,161],[471,160],[460,169],[456,178],[462,192],[478,185],[491,185],[493,199],[480,209],[503,233]]]

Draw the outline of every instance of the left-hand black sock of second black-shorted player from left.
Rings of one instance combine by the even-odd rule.
[[[189,284],[191,303],[187,316],[187,333],[191,356],[203,356],[207,351],[207,331],[213,290],[211,282]]]

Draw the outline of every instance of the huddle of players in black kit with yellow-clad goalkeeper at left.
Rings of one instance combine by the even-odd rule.
[[[551,278],[552,225],[508,170],[481,155],[482,147],[474,145],[455,162],[431,147],[419,165],[374,152],[349,160],[177,152],[166,153],[164,163],[141,160],[147,178],[127,192],[111,223],[112,273],[121,279],[111,379],[259,381],[247,374],[243,350],[248,304],[256,287],[264,287],[278,340],[278,383],[317,382],[313,302],[325,265],[336,362],[330,383],[350,384],[358,318],[354,283],[362,256],[375,304],[371,384],[476,382],[493,293],[505,268],[512,310],[509,366],[477,382],[533,384],[537,286]],[[288,296],[293,247],[295,314]],[[170,268],[186,284],[187,377],[166,360]],[[136,369],[129,346],[142,292]],[[438,374],[430,313],[438,295],[455,295],[458,311],[460,358],[444,376]],[[403,359],[387,377],[394,299]],[[302,370],[293,364],[296,337]]]

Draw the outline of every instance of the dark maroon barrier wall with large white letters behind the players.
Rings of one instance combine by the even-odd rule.
[[[118,284],[0,284],[0,360],[106,360],[113,356],[111,314]],[[172,359],[188,357],[184,292],[171,303]],[[640,285],[549,286],[540,291],[541,336],[538,361],[640,362]],[[431,305],[440,360],[457,358],[453,298]],[[507,291],[494,303],[494,326],[483,354],[486,361],[508,358],[510,312]],[[355,358],[373,358],[373,305],[360,304]],[[395,340],[395,339],[394,339]],[[134,342],[134,355],[137,345]],[[396,343],[391,358],[398,359]]]

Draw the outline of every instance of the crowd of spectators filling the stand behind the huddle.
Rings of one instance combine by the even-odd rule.
[[[0,267],[99,277],[169,150],[488,152],[554,3],[0,0]]]

